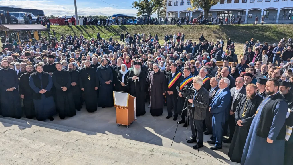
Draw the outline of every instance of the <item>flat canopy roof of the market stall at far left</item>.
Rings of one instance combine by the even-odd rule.
[[[29,31],[29,30],[47,30],[42,25],[0,25],[0,31]]]

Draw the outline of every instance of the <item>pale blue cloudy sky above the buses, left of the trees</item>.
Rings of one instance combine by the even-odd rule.
[[[137,9],[130,7],[132,2],[133,0],[76,0],[77,14],[78,16],[112,16],[113,14],[137,16]],[[41,9],[46,16],[51,14],[53,16],[75,15],[73,0],[0,0],[0,5]]]

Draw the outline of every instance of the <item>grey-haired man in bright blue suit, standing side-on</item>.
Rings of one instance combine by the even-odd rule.
[[[219,82],[219,90],[209,105],[209,111],[213,114],[213,140],[207,141],[215,144],[210,147],[212,150],[222,149],[224,125],[226,117],[229,114],[229,105],[231,102],[231,92],[229,90],[230,80],[221,78]]]

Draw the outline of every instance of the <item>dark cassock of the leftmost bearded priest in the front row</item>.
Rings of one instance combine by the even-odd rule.
[[[1,115],[3,117],[21,118],[22,109],[20,96],[18,93],[18,76],[16,71],[8,68],[0,69],[0,102]],[[15,87],[13,91],[7,91],[8,88]]]

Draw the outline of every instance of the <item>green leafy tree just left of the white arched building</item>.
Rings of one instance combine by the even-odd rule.
[[[162,6],[161,0],[138,0],[132,3],[132,8],[138,10],[137,16],[141,16],[143,14],[147,14],[151,16],[151,14],[156,13],[155,7]]]

